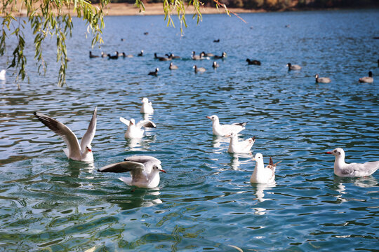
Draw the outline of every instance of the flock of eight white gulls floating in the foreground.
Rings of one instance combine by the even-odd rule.
[[[154,109],[152,102],[149,102],[147,97],[142,99],[141,113],[152,114]],[[49,116],[39,112],[34,112],[34,116],[41,121],[46,127],[58,134],[67,148],[64,150],[67,158],[77,161],[93,162],[93,153],[91,149],[91,142],[95,137],[96,122],[97,122],[97,108],[93,111],[91,122],[88,125],[88,130],[81,139],[81,143],[75,134],[69,130],[69,127],[60,123]],[[245,129],[246,123],[232,123],[220,124],[218,116],[206,116],[212,121],[213,135],[219,137],[230,137],[230,144],[228,148],[229,153],[251,153],[251,148],[255,143],[255,137],[246,139],[244,141],[238,140],[238,133]],[[128,126],[128,130],[124,137],[126,139],[140,139],[143,137],[144,130],[142,127],[157,127],[151,120],[141,120],[135,123],[135,120],[126,120],[120,117],[119,120]],[[334,174],[343,177],[361,177],[373,174],[379,168],[379,161],[365,162],[363,164],[347,164],[345,163],[345,152],[342,148],[335,148],[331,152],[326,152],[335,156]],[[269,165],[265,167],[263,162],[263,155],[256,153],[252,159],[255,161],[253,174],[251,174],[251,183],[274,184],[275,183],[275,170],[277,164],[272,161],[270,157]],[[128,186],[136,186],[140,188],[155,188],[159,186],[160,176],[159,172],[166,173],[161,167],[161,161],[157,158],[148,155],[135,155],[126,158],[124,162],[118,162],[112,165],[107,165],[98,169],[99,172],[130,172],[131,177],[120,177],[119,179],[126,183]]]

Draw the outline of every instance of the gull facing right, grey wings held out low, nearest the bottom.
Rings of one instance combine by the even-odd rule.
[[[124,162],[107,165],[98,169],[99,172],[131,172],[131,177],[121,177],[119,180],[128,186],[139,188],[155,188],[159,185],[159,172],[166,173],[161,167],[161,161],[150,156],[132,156]]]

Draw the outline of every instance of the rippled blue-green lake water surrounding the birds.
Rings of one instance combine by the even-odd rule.
[[[189,18],[189,16],[188,16]],[[109,17],[105,44],[144,57],[89,59],[91,39],[75,21],[68,43],[68,87],[57,87],[55,41],[50,68],[30,83],[0,83],[0,251],[374,251],[379,247],[379,173],[361,179],[333,175],[333,148],[347,162],[379,160],[379,11],[349,10],[204,15],[180,36],[163,16]],[[190,19],[190,18],[189,18]],[[285,25],[290,25],[286,28]],[[148,35],[143,33],[148,31]],[[121,41],[124,38],[124,41]],[[213,43],[220,38],[220,43]],[[100,49],[92,49],[100,55]],[[192,50],[221,55],[194,62]],[[182,59],[153,59],[173,52]],[[8,52],[10,53],[10,52]],[[49,59],[50,58],[50,59]],[[246,58],[261,66],[248,66]],[[6,57],[1,58],[4,68]],[[300,64],[288,72],[286,64]],[[192,66],[207,69],[195,74]],[[159,76],[147,76],[159,67]],[[317,84],[314,75],[328,76]],[[124,118],[142,119],[149,97],[156,129],[126,141]],[[46,113],[79,137],[98,106],[95,162],[67,160],[63,141],[33,116]],[[241,139],[257,137],[253,154],[272,156],[274,187],[252,185],[255,162],[227,153],[211,120],[245,122]],[[158,189],[127,186],[120,174],[97,169],[129,155],[162,162]],[[126,174],[125,176],[128,176]],[[234,247],[235,246],[235,247]]]

